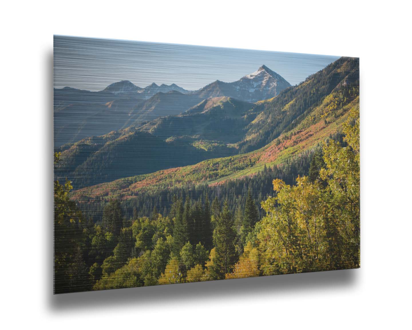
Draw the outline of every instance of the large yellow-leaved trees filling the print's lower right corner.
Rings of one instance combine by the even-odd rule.
[[[347,146],[323,145],[319,180],[273,181],[258,233],[263,275],[359,267],[359,112],[344,124]]]

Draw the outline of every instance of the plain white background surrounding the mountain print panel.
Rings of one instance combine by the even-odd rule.
[[[1,10],[5,329],[410,326],[406,1],[7,1]],[[360,57],[362,268],[53,297],[53,34]]]

